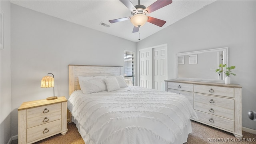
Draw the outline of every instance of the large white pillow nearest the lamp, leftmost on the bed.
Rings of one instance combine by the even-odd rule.
[[[80,88],[84,94],[107,90],[104,79],[106,76],[82,77],[78,76]]]

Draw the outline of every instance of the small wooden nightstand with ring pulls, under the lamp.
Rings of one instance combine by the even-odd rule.
[[[18,143],[31,144],[56,134],[66,134],[67,99],[24,102],[18,108]]]

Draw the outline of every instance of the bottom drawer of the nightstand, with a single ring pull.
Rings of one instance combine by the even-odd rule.
[[[35,126],[33,128],[27,129],[27,143],[40,138],[50,136],[51,134],[56,134],[62,130],[61,120],[56,120],[49,122],[47,124],[42,124],[40,126]]]

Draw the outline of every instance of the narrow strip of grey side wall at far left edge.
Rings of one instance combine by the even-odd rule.
[[[11,55],[10,55],[10,2],[0,1],[1,10],[4,13],[4,50],[1,50],[1,87],[0,87],[0,144],[6,144],[11,137],[10,121],[11,121]]]

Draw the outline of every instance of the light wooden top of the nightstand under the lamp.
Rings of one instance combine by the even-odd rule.
[[[65,96],[62,97],[58,97],[55,100],[34,100],[34,101],[30,101],[30,102],[23,102],[21,104],[21,106],[18,108],[18,110],[25,110],[25,109],[29,109],[29,108],[35,108],[38,106],[46,106],[46,105],[50,105],[50,104],[56,104],[56,103],[60,103],[60,102],[67,102],[68,100],[66,99]]]

